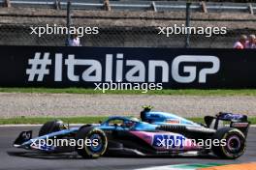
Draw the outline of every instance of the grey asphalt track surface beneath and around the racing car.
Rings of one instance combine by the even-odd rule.
[[[149,166],[161,166],[180,163],[240,163],[256,161],[256,128],[250,128],[247,138],[247,149],[243,156],[236,160],[223,160],[214,156],[208,157],[101,157],[98,159],[82,159],[76,153],[44,155],[39,152],[25,151],[12,147],[13,141],[21,130],[35,129],[38,127],[1,127],[0,128],[0,170],[71,170],[95,169],[116,170],[136,169]]]

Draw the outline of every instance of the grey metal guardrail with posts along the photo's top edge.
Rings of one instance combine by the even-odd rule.
[[[3,7],[48,8],[56,10],[67,9],[67,2],[71,0],[0,0]],[[192,3],[195,12],[236,12],[254,13],[254,0],[72,0],[72,9],[91,11],[154,11],[174,12],[185,11],[186,2]],[[240,2],[240,3],[238,3]],[[250,3],[250,4],[249,4]]]

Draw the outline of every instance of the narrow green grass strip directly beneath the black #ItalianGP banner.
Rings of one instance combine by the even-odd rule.
[[[85,88],[0,88],[2,93],[48,93],[48,94],[103,94],[102,91]],[[256,89],[240,89],[240,90],[197,90],[197,89],[176,89],[161,91],[143,91],[136,90],[116,90],[106,91],[105,94],[128,94],[128,95],[189,95],[189,96],[256,96]]]

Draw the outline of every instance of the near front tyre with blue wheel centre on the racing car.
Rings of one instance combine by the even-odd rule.
[[[96,143],[93,142],[96,139]],[[76,151],[83,158],[98,158],[106,152],[108,148],[108,139],[103,130],[94,127],[80,128],[76,137],[77,143],[82,141],[82,146],[76,146]],[[89,141],[90,140],[90,141]],[[89,141],[90,144],[86,141]]]

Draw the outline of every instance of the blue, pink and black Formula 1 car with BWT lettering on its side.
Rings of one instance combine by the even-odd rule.
[[[226,122],[226,123],[224,123]],[[228,123],[228,125],[227,125]],[[22,131],[14,147],[46,153],[77,152],[84,158],[104,155],[176,156],[186,153],[221,158],[238,158],[246,148],[246,135],[250,123],[247,116],[219,113],[206,116],[205,124],[198,124],[172,113],[151,111],[144,107],[141,121],[136,118],[113,116],[105,122],[67,128],[63,122],[46,123],[38,137],[32,130]],[[97,141],[95,145],[56,146],[42,144],[46,139]],[[212,145],[208,145],[211,141]],[[213,142],[212,142],[213,141]],[[85,143],[86,143],[85,142]]]

